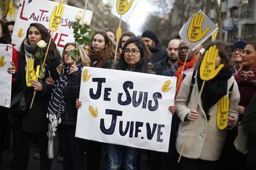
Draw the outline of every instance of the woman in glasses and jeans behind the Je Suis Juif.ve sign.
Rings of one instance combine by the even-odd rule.
[[[142,40],[130,38],[124,44],[121,59],[117,63],[116,70],[135,71],[140,73],[155,74],[148,67],[147,48]],[[107,144],[108,169],[137,169],[138,148],[121,145]]]

